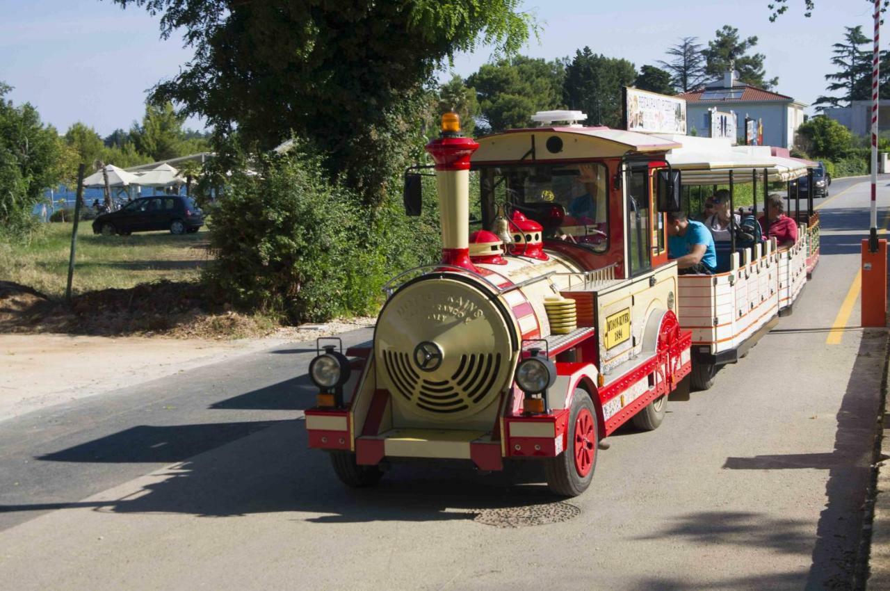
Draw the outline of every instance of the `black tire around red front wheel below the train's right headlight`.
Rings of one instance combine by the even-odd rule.
[[[583,445],[590,458],[589,472],[582,476],[578,473],[576,467],[576,428],[578,427],[578,417],[584,414],[586,419],[592,421],[593,430],[588,431],[585,439],[578,441]],[[547,486],[552,492],[561,497],[577,497],[579,494],[587,490],[590,482],[594,479],[596,470],[596,451],[599,447],[599,429],[596,424],[596,410],[594,403],[590,400],[587,391],[580,388],[575,390],[571,397],[571,410],[569,413],[569,433],[566,440],[568,441],[566,449],[557,457],[549,457],[544,463],[544,474],[546,475]],[[592,435],[592,436],[590,436]]]

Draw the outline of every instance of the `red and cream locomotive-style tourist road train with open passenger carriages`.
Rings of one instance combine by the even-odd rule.
[[[542,113],[538,127],[478,141],[442,117],[426,146],[441,262],[389,282],[371,344],[322,340],[310,365],[309,445],[347,485],[374,484],[405,458],[484,472],[538,461],[554,493],[576,496],[604,438],[628,421],[657,428],[669,394],[710,387],[791,310],[819,257],[812,198],[789,195],[796,244],[732,239],[713,275],[678,274],[666,214],[690,207],[696,187],[734,196],[750,184],[757,215],[770,183],[813,163],[580,117]],[[421,180],[406,174],[409,215]]]

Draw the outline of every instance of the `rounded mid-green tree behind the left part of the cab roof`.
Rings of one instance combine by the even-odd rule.
[[[531,124],[539,110],[555,109],[562,100],[562,61],[517,56],[485,64],[466,79],[479,101],[482,133],[498,133]]]

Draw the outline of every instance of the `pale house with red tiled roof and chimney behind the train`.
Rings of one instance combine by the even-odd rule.
[[[710,110],[735,113],[736,129],[740,138],[745,134],[745,118],[762,119],[764,145],[791,148],[797,127],[804,123],[805,102],[790,96],[748,85],[738,79],[737,72],[726,72],[724,77],[692,93],[681,93],[686,100],[686,120],[689,134],[707,136],[710,133]],[[694,132],[692,130],[695,130]],[[740,139],[740,143],[744,140]]]

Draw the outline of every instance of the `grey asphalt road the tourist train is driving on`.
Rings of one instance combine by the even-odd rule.
[[[794,314],[658,430],[611,437],[567,504],[536,466],[344,489],[306,449],[295,344],[0,423],[0,587],[847,588],[886,339],[858,301],[838,317],[869,191],[831,189]],[[528,520],[554,522],[498,527]]]

